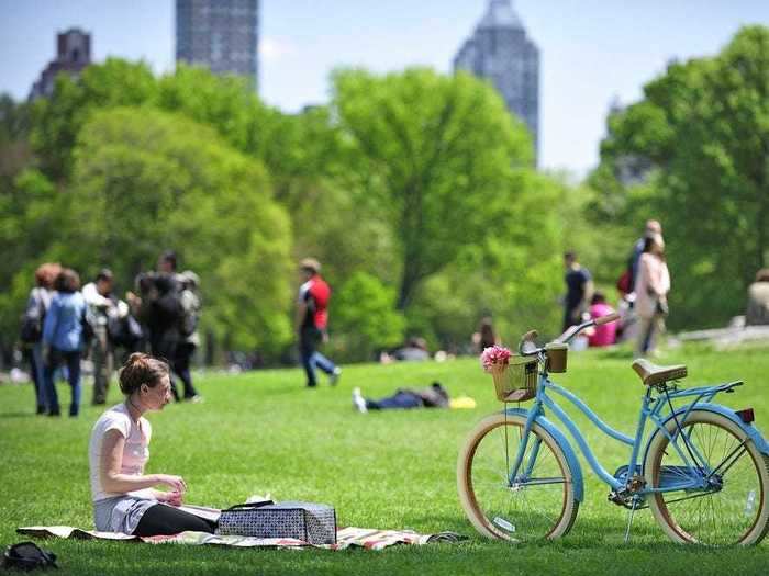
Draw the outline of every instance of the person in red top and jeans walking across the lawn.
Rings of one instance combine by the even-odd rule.
[[[315,366],[328,374],[333,386],[339,380],[342,369],[317,351],[321,341],[328,340],[328,301],[331,287],[321,278],[321,263],[305,258],[299,264],[304,283],[299,287],[294,328],[299,338],[299,353],[307,373],[309,388],[317,385]]]

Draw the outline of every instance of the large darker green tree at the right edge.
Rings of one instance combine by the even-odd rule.
[[[744,27],[715,57],[671,64],[640,102],[610,116],[594,182],[604,200],[635,190],[662,221],[673,326],[742,313],[769,257],[768,157],[766,26]]]

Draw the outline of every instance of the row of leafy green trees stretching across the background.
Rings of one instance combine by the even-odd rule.
[[[287,114],[234,77],[110,58],[48,99],[0,98],[2,346],[41,262],[107,266],[131,290],[165,248],[200,274],[218,349],[270,362],[304,256],[334,286],[343,359],[411,335],[461,348],[486,314],[508,341],[554,334],[562,251],[614,294],[647,217],[672,327],[723,323],[767,261],[768,82],[764,26],[671,64],[609,115],[600,166],[572,184],[534,169],[524,124],[466,74],[338,69],[327,104]]]

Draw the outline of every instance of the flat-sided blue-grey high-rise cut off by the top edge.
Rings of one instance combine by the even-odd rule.
[[[258,81],[259,0],[176,0],[176,59]]]

